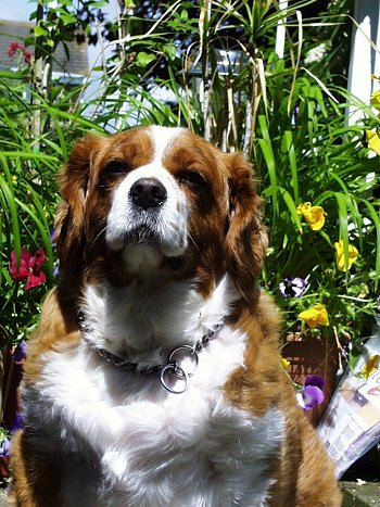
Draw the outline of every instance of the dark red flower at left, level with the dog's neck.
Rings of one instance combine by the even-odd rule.
[[[25,290],[34,289],[46,280],[45,272],[41,271],[41,265],[47,259],[45,250],[39,249],[35,255],[31,255],[27,249],[22,249],[20,265],[17,266],[16,253],[11,253],[10,274],[13,280],[24,280],[27,278]]]

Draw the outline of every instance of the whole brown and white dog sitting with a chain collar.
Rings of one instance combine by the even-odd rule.
[[[17,505],[339,506],[257,286],[267,236],[244,156],[136,128],[79,141],[60,180]]]

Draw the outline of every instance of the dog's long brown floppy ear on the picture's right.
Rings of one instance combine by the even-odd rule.
[[[230,221],[226,236],[227,268],[245,300],[261,272],[268,238],[262,224],[262,199],[256,194],[253,167],[242,153],[225,154],[229,174]]]

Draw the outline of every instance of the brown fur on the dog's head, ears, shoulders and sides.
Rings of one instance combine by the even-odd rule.
[[[69,347],[80,340],[75,308],[85,280],[105,277],[115,284],[130,281],[117,253],[109,252],[104,245],[104,217],[110,210],[112,188],[103,170],[112,160],[127,161],[132,170],[147,164],[151,152],[145,129],[131,129],[109,138],[88,136],[74,148],[60,176],[63,201],[58,211],[55,241],[61,282],[47,297],[40,326],[30,341],[26,384],[33,384],[40,375],[46,351]],[[256,417],[270,407],[286,414],[281,452],[271,457],[277,482],[269,506],[340,506],[341,493],[332,464],[297,406],[293,386],[280,364],[277,312],[256,286],[267,236],[261,221],[262,203],[255,191],[252,166],[243,155],[221,154],[191,132],[176,140],[164,164],[173,175],[193,168],[208,185],[199,193],[183,189],[192,202],[189,228],[193,243],[176,270],[163,261],[163,276],[197,277],[198,290],[206,296],[223,274],[230,272],[242,296],[230,321],[246,333],[249,342],[244,366],[224,386],[226,397]],[[117,180],[112,185],[117,185]],[[28,428],[20,432],[13,444],[16,504],[62,506],[56,497],[60,481],[53,466],[56,457],[43,457],[33,449],[30,431]]]

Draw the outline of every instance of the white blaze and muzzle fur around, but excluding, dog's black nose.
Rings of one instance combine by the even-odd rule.
[[[156,267],[162,255],[172,257],[183,254],[187,248],[188,204],[177,181],[163,166],[163,156],[181,129],[165,129],[152,127],[149,130],[155,147],[153,159],[147,165],[130,172],[122,181],[113,195],[111,211],[107,217],[105,240],[112,250],[125,248],[126,235],[138,228],[150,229],[157,242],[147,249],[132,245],[125,251],[128,269],[136,272],[141,265]],[[167,199],[160,210],[136,210],[128,199],[132,185],[140,178],[155,178],[167,191]],[[159,211],[159,213],[157,213]],[[135,265],[137,263],[137,266]]]

